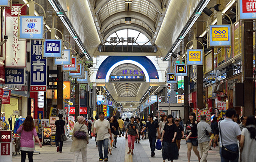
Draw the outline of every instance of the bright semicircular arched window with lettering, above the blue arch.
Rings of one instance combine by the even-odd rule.
[[[112,33],[107,38],[107,41],[110,42],[111,37],[127,38],[127,30],[128,30],[128,35],[129,35],[128,37],[134,37],[134,40],[136,40],[136,38],[139,36],[138,39],[136,40],[136,43],[138,43],[139,45],[143,45],[143,44],[145,44],[149,41],[147,36],[145,36],[143,33],[140,33],[139,31],[135,31],[135,30],[132,30],[132,29],[123,29],[123,30],[120,30],[120,31],[116,31],[115,33]],[[106,42],[105,44],[110,45],[108,42]],[[118,45],[122,45],[122,44],[118,44]],[[127,42],[124,42],[123,45],[127,45]],[[134,45],[137,45],[137,44],[134,44]],[[151,42],[149,41],[145,45],[151,45]]]

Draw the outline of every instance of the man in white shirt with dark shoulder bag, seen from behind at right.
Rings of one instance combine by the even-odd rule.
[[[231,162],[238,162],[238,145],[237,139],[240,141],[241,130],[239,125],[233,121],[236,111],[233,108],[229,108],[226,111],[226,118],[223,121],[219,121],[219,153],[221,155],[221,162],[229,162],[229,160],[222,157],[222,146],[227,149],[237,152],[237,158]]]

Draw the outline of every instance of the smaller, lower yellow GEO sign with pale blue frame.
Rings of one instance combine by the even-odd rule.
[[[203,49],[187,49],[188,65],[203,65]]]

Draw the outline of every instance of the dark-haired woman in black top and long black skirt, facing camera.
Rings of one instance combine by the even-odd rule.
[[[171,160],[171,162],[173,162],[173,160],[179,159],[179,151],[175,139],[176,135],[177,126],[174,124],[173,116],[168,115],[167,123],[165,123],[161,138],[161,141],[163,142],[163,162],[165,162],[165,159],[168,159],[168,161]]]

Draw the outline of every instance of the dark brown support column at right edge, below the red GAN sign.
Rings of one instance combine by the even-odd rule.
[[[244,108],[243,115],[255,115],[255,85],[253,84],[253,22],[243,22],[243,83]]]

